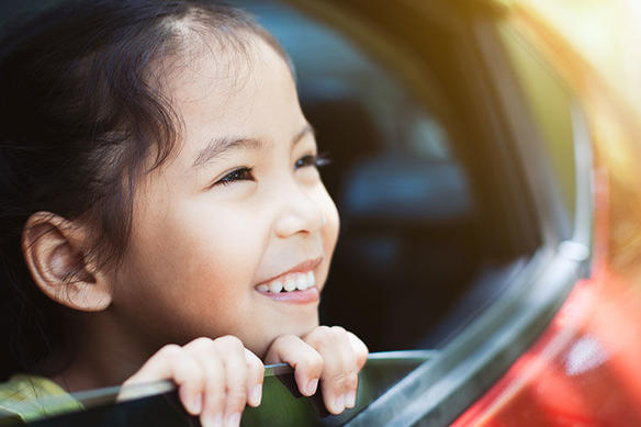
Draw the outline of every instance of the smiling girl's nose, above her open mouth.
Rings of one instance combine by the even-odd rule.
[[[314,200],[311,189],[292,182],[278,190],[279,213],[275,234],[285,238],[296,234],[312,234],[325,224],[325,213],[320,202]]]

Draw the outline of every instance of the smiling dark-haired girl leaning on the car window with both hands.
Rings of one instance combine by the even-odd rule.
[[[2,367],[29,373],[4,395],[171,379],[236,426],[286,362],[355,405],[368,350],[317,315],[338,215],[271,35],[222,5],[81,1],[0,55]]]

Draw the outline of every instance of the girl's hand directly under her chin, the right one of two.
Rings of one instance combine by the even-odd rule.
[[[340,326],[318,326],[302,338],[282,335],[270,346],[267,363],[289,363],[301,393],[316,393],[318,380],[327,411],[340,414],[356,404],[358,373],[366,364],[368,348]]]

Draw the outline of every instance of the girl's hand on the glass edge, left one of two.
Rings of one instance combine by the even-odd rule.
[[[260,404],[265,367],[233,336],[162,347],[123,385],[173,380],[185,409],[203,427],[238,426],[247,403]]]

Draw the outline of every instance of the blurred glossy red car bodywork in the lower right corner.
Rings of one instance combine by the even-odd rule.
[[[605,180],[605,176],[601,176]],[[597,193],[593,276],[543,336],[453,426],[641,425],[641,302],[608,263],[608,187]]]

